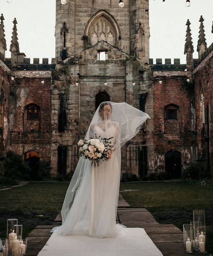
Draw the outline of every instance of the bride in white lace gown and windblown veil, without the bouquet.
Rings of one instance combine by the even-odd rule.
[[[125,102],[99,105],[85,139],[111,138],[113,148],[107,151],[108,161],[100,161],[99,166],[80,157],[63,202],[62,226],[54,228],[55,233],[96,238],[113,238],[121,233],[123,226],[116,224],[121,147],[147,118],[149,115]]]

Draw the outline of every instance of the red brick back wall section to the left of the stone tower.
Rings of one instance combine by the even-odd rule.
[[[11,82],[10,96],[11,149],[23,156],[33,150],[40,154],[41,159],[50,160],[51,72],[15,71],[12,76],[15,80]],[[41,83],[42,78],[44,84]],[[37,107],[35,120],[29,119],[29,105]]]

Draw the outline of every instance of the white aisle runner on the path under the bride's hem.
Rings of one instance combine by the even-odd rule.
[[[125,228],[116,238],[52,234],[38,256],[163,256],[143,228]]]

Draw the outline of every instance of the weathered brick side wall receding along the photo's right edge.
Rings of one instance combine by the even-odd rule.
[[[193,70],[195,85],[196,142],[198,159],[201,160],[205,172],[213,174],[213,45],[207,49],[207,55]],[[203,104],[201,103],[203,95]],[[201,108],[204,118],[201,120]],[[204,124],[204,125],[203,125]]]

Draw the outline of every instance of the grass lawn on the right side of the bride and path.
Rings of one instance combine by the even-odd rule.
[[[198,182],[122,183],[124,199],[132,207],[146,207],[161,224],[183,224],[193,221],[193,209],[205,209],[207,251],[213,253],[213,186]],[[138,191],[125,191],[125,190]]]

